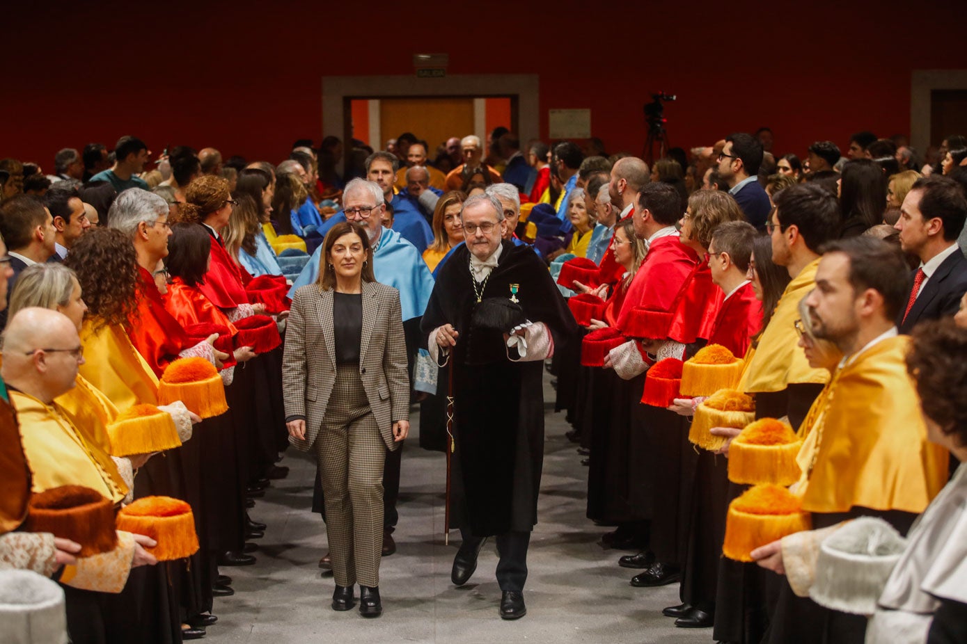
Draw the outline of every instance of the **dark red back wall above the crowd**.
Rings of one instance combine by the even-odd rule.
[[[449,53],[449,73],[538,73],[543,136],[548,109],[590,107],[595,135],[632,153],[659,90],[678,95],[672,145],[768,125],[802,154],[907,133],[911,70],[967,68],[963,0],[12,4],[0,156],[48,171],[62,147],[127,133],[278,160],[321,138],[323,75],[411,74],[418,51]]]

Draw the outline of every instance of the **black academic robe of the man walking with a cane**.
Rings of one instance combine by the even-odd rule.
[[[501,243],[483,298],[509,298],[516,285],[524,317],[546,324],[555,344],[576,333],[571,310],[534,251]],[[473,280],[470,251],[460,246],[437,276],[422,326],[428,334],[450,323],[459,333],[451,356],[452,515],[457,527],[476,536],[530,531],[537,523],[543,463],[543,361],[513,362],[500,331],[471,328]]]

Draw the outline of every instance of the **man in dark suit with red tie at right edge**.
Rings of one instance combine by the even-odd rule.
[[[946,177],[924,177],[913,184],[900,208],[894,228],[903,250],[920,258],[907,302],[896,324],[900,333],[923,320],[956,313],[967,292],[967,259],[957,235],[967,219],[967,198],[956,182]]]

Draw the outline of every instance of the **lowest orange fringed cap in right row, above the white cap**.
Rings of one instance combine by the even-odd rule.
[[[729,448],[731,459],[731,448]],[[751,551],[811,527],[799,498],[779,486],[756,486],[729,504],[722,554],[750,562]]]

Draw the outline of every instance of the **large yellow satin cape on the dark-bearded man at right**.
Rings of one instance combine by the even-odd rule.
[[[835,373],[810,431],[818,445],[801,490],[804,510],[858,506],[920,514],[947,483],[949,453],[927,441],[920,398],[906,372],[909,343],[906,336],[882,340]]]

